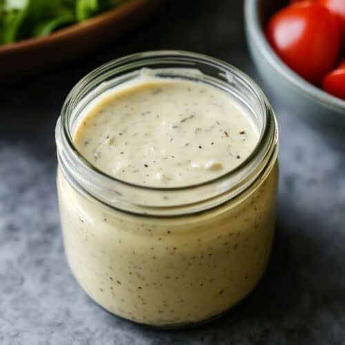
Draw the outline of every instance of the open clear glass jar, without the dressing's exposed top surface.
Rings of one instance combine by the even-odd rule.
[[[235,97],[261,133],[250,156],[217,179],[182,188],[129,184],[92,166],[72,141],[83,109],[142,68]],[[56,141],[68,263],[103,308],[143,324],[184,326],[225,313],[257,285],[275,227],[277,124],[266,97],[244,73],[190,52],[117,59],[72,89]]]

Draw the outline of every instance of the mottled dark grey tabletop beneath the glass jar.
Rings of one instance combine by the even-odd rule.
[[[268,271],[242,306],[206,326],[155,331],[91,302],[66,264],[54,128],[68,90],[100,63],[165,48],[224,59],[260,83],[242,20],[240,0],[171,1],[112,46],[1,90],[0,344],[345,344],[345,140],[300,121],[274,97],[277,235]]]

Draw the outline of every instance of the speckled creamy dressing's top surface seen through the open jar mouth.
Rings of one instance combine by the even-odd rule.
[[[82,117],[74,140],[83,157],[112,177],[176,187],[233,170],[258,137],[226,92],[152,77],[101,97]]]

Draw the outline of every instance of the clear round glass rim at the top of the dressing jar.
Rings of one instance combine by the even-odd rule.
[[[136,66],[138,69],[144,68],[145,66],[143,63],[150,62],[154,63],[155,60],[161,61],[164,63],[169,63],[172,61],[176,63],[177,61],[181,61],[181,63],[190,63],[192,66],[195,63],[202,63],[207,66],[213,66],[215,68],[219,68],[219,70],[223,70],[228,78],[228,82],[230,82],[231,78],[236,77],[237,79],[241,80],[245,83],[246,87],[253,93],[254,97],[259,101],[259,104],[262,108],[264,119],[263,119],[263,126],[260,132],[259,139],[257,144],[250,155],[242,161],[241,164],[236,166],[235,168],[224,172],[224,174],[215,177],[214,179],[210,179],[207,181],[201,181],[197,184],[188,184],[186,186],[145,186],[143,184],[135,184],[130,181],[124,181],[117,177],[108,175],[106,172],[103,172],[97,168],[97,166],[93,165],[88,161],[75,147],[75,144],[72,139],[72,133],[70,128],[70,116],[74,110],[72,103],[75,101],[76,95],[78,95],[83,89],[87,88],[90,84],[90,81],[95,81],[95,83],[99,83],[102,77],[106,75],[109,71],[111,75],[116,78],[117,73],[126,71],[126,68],[135,68]],[[181,50],[158,50],[158,51],[151,51],[151,52],[138,52],[132,55],[128,55],[126,57],[121,57],[119,59],[112,60],[108,63],[104,63],[103,65],[95,68],[92,70],[88,75],[83,77],[73,88],[70,90],[68,96],[66,97],[66,101],[63,103],[63,107],[61,110],[61,116],[59,117],[58,124],[57,124],[57,146],[58,146],[58,157],[59,157],[59,142],[63,141],[63,145],[70,150],[73,158],[77,159],[78,163],[81,164],[83,171],[92,173],[96,175],[99,179],[107,180],[108,183],[116,183],[128,188],[135,188],[136,190],[143,190],[143,191],[153,191],[159,192],[164,191],[164,193],[170,192],[181,192],[187,190],[195,190],[195,188],[202,188],[207,187],[213,184],[217,184],[221,181],[226,179],[231,179],[235,175],[238,175],[239,172],[244,170],[248,170],[248,166],[253,164],[253,160],[257,157],[258,153],[263,150],[264,148],[266,151],[270,151],[271,155],[273,154],[272,148],[277,146],[278,141],[278,132],[277,132],[277,121],[275,119],[275,115],[273,113],[264,92],[262,92],[261,88],[246,75],[244,72],[235,68],[234,66],[221,61],[219,59],[208,57],[207,55],[201,55],[194,52],[186,52]],[[266,152],[267,153],[267,152]],[[106,203],[108,204],[108,203]]]

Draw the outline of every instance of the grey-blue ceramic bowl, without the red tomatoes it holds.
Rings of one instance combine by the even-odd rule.
[[[291,112],[308,120],[345,126],[345,101],[299,77],[266,40],[264,28],[268,19],[286,3],[283,0],[245,0],[246,37],[253,61],[264,82]]]

